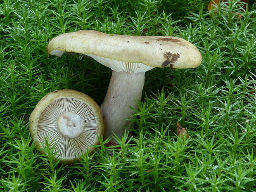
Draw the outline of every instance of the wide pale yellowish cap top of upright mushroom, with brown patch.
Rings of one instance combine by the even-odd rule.
[[[110,35],[81,30],[59,35],[48,43],[47,52],[61,57],[76,52],[151,67],[183,69],[201,64],[201,53],[192,43],[171,36]]]

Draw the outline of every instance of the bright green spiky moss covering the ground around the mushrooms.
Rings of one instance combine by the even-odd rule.
[[[228,2],[209,12],[209,0],[1,0],[0,191],[255,192],[256,3],[242,10]],[[28,117],[58,89],[102,103],[110,69],[47,54],[51,38],[81,29],[177,36],[203,60],[196,69],[147,72],[121,150],[102,141],[80,164],[64,166],[51,149],[45,156],[34,148]],[[176,136],[176,122],[189,139]]]

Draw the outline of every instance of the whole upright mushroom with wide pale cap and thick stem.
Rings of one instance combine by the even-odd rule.
[[[104,139],[119,138],[132,126],[127,121],[141,99],[145,72],[154,67],[194,68],[201,54],[190,42],[171,36],[110,35],[92,30],[64,33],[50,40],[47,51],[61,57],[65,52],[83,53],[113,70],[101,105]]]

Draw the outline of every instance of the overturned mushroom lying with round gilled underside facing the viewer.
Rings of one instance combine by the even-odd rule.
[[[88,95],[56,90],[38,102],[29,118],[29,130],[40,152],[48,139],[55,157],[72,164],[87,150],[88,154],[95,151],[93,146],[99,144],[104,121],[100,107]]]

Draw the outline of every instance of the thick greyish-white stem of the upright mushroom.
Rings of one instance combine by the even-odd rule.
[[[107,94],[100,106],[105,122],[104,139],[113,133],[121,138],[125,131],[132,127],[132,121],[126,120],[131,119],[133,114],[129,107],[137,109],[136,100],[141,99],[144,80],[145,72],[113,71]]]

